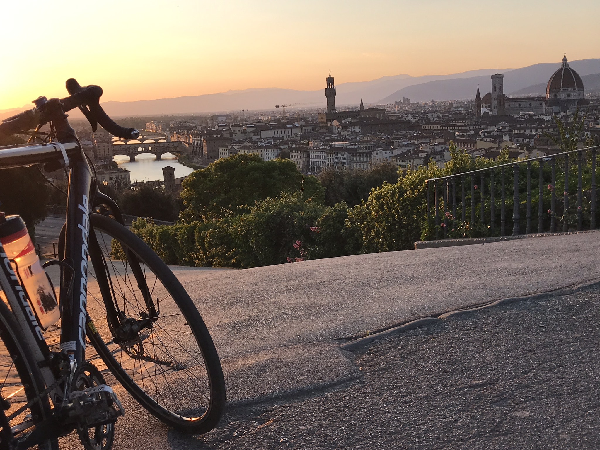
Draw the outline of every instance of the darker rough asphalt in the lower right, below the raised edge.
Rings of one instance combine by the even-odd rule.
[[[347,355],[352,380],[230,409],[177,449],[598,449],[598,288],[451,317]]]

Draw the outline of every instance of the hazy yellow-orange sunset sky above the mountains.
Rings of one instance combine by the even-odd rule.
[[[13,0],[0,109],[68,77],[127,101],[598,58],[598,17],[598,0]]]

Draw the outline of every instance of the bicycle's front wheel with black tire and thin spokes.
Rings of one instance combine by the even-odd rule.
[[[154,251],[152,251],[152,249],[142,241],[142,239],[140,239],[126,227],[109,217],[105,217],[100,214],[91,214],[91,229],[93,230],[93,234],[98,246],[96,247],[96,245],[94,245],[94,239],[90,239],[91,245],[89,253],[92,266],[94,268],[94,274],[92,274],[90,280],[92,281],[92,279],[95,278],[95,280],[98,281],[98,277],[101,278],[103,276],[101,275],[101,272],[104,271],[104,274],[107,274],[107,281],[109,282],[110,288],[110,298],[107,298],[109,297],[109,293],[107,293],[106,286],[104,286],[104,291],[100,286],[101,283],[106,283],[98,282],[98,292],[96,293],[92,292],[93,289],[91,289],[91,286],[88,285],[88,314],[90,315],[93,323],[92,326],[89,326],[88,324],[88,338],[91,341],[92,346],[94,346],[95,350],[98,352],[98,355],[100,355],[101,359],[103,359],[104,364],[107,365],[109,370],[113,373],[121,385],[124,386],[124,388],[127,389],[132,397],[134,397],[143,407],[145,407],[148,412],[152,413],[152,415],[157,417],[160,421],[164,422],[170,427],[186,433],[201,434],[212,430],[212,428],[217,425],[218,421],[223,415],[225,405],[225,383],[223,379],[223,370],[221,368],[221,362],[211,335],[209,334],[208,329],[206,328],[206,325],[203,322],[202,317],[200,316],[200,313],[198,312],[190,296],[185,291],[181,283],[179,283],[179,280],[175,277],[175,275],[173,275],[173,272],[163,262],[163,260],[161,260],[160,257],[158,257],[157,254],[155,254]],[[155,277],[152,290],[154,291],[157,281],[160,281],[164,287],[164,292],[167,292],[167,294],[173,299],[173,303],[175,304],[174,308],[178,308],[179,311],[181,311],[181,313],[163,314],[162,316],[158,314],[158,319],[152,324],[153,328],[151,331],[146,331],[148,335],[143,335],[143,339],[139,338],[138,341],[136,341],[134,344],[131,344],[129,347],[124,346],[124,344],[115,344],[113,340],[115,338],[114,331],[107,323],[106,305],[107,302],[108,304],[116,302],[117,306],[119,306],[119,300],[122,298],[124,310],[130,310],[131,308],[135,309],[135,305],[132,306],[133,299],[131,299],[131,297],[132,295],[135,296],[136,287],[133,286],[133,284],[128,286],[127,289],[125,289],[125,286],[121,287],[120,284],[119,287],[116,287],[116,284],[121,283],[121,281],[123,281],[123,283],[130,281],[130,277],[127,272],[127,268],[125,267],[127,262],[124,262],[122,259],[113,259],[112,253],[115,243],[111,240],[109,244],[109,242],[107,242],[107,239],[109,238],[118,242],[120,244],[119,248],[122,250],[127,249],[127,251],[133,252],[133,254],[139,260],[140,266],[143,266],[144,268],[144,275],[146,275],[146,268],[148,268],[149,273],[151,274],[150,276]],[[110,245],[110,250],[107,249],[107,245]],[[104,250],[103,246],[105,247]],[[121,268],[120,264],[122,264],[125,269]],[[119,271],[124,271],[126,276]],[[147,279],[145,282],[149,286]],[[139,287],[139,282],[137,284]],[[136,301],[139,303],[139,299],[136,298]],[[160,301],[163,302],[162,305],[160,304]],[[160,307],[165,307],[164,301],[164,298],[162,300],[157,298],[157,302],[159,302],[159,309]],[[114,305],[115,303],[112,304]],[[104,311],[99,310],[103,306]],[[167,307],[170,306],[167,305]],[[147,309],[148,308],[146,308],[146,310]],[[140,307],[140,311],[137,311],[137,313],[139,313],[139,316],[141,317],[144,311],[145,310],[142,310]],[[187,350],[183,348],[168,350],[168,347],[183,347],[181,342],[175,339],[173,339],[172,346],[164,344],[163,339],[166,340],[167,336],[170,336],[169,331],[173,332],[174,334],[175,330],[169,328],[169,331],[165,332],[164,330],[166,329],[164,327],[159,328],[160,325],[158,325],[158,321],[166,317],[171,317],[171,321],[173,321],[176,320],[173,319],[173,317],[178,315],[182,316],[182,318],[185,320],[185,323],[183,325],[173,325],[170,323],[169,326],[179,326],[180,329],[181,327],[188,327],[185,328],[185,331],[181,332],[185,333],[185,336],[189,340],[188,344],[190,347],[194,347],[194,343],[191,341],[195,340],[196,346],[199,349],[199,353],[202,355],[204,363],[202,364],[199,359],[191,361],[191,364],[195,364],[196,362],[198,364],[194,367],[194,371],[187,371],[189,374],[182,373],[184,369],[187,370],[187,365],[185,365],[187,363],[179,360],[175,360],[175,362],[167,361],[170,364],[170,368],[164,368],[163,371],[159,371],[163,368],[163,366],[167,366],[166,362],[164,362],[164,359],[161,360],[160,358],[175,359],[171,353],[175,353],[176,351],[178,354],[184,352],[198,353],[197,350]],[[136,317],[136,319],[139,319],[139,317]],[[189,331],[187,331],[188,329]],[[163,338],[160,336],[156,338],[156,335],[159,334],[162,334]],[[193,338],[190,338],[189,335],[192,334]],[[142,332],[140,332],[139,336],[142,336]],[[162,349],[161,345],[163,346]],[[110,349],[109,346],[111,347]],[[154,350],[154,356],[144,356],[146,355],[145,352],[148,351],[146,346],[152,346],[152,349]],[[160,350],[157,351],[157,347]],[[123,362],[124,355],[125,364]],[[143,358],[147,359],[144,360]],[[149,362],[148,358],[152,361]],[[187,357],[182,356],[182,359],[185,358]],[[188,358],[188,360],[189,359],[190,358]],[[130,370],[132,361],[133,370]],[[136,369],[138,364],[139,370]],[[158,368],[159,366],[161,367]],[[179,379],[187,377],[185,379],[194,382],[194,380],[205,376],[203,373],[196,372],[196,370],[202,372],[202,367],[206,371],[206,381],[208,382],[209,388],[209,397],[206,397],[205,394],[205,397],[208,398],[208,404],[206,404],[206,406],[200,405],[201,409],[197,409],[197,416],[182,414],[181,410],[185,411],[186,408],[190,408],[190,406],[185,406],[184,403],[185,399],[188,398],[188,395],[190,395],[190,392],[193,392],[193,390],[190,386],[187,386],[189,389],[183,389],[182,391],[179,391],[179,393],[173,392],[173,386],[170,386],[170,381],[167,380],[165,374],[172,376],[172,374],[175,373],[178,374]],[[144,383],[143,373],[145,372],[149,373],[151,377],[149,386]],[[158,374],[163,376],[164,380],[160,379]],[[154,380],[152,380],[152,376],[154,376]],[[177,381],[177,379],[175,379],[175,381]],[[158,385],[162,383],[162,386],[164,385],[164,382],[166,382],[166,389],[169,389],[173,395],[179,396],[177,401],[167,402],[164,398],[164,395],[162,396],[162,399],[160,398],[161,394],[159,392]],[[181,384],[179,387],[183,388]],[[196,386],[193,387],[196,388]],[[200,387],[202,388],[203,386]],[[181,405],[179,410],[175,410],[173,407],[169,406],[169,404],[176,404],[177,402],[179,402]]]

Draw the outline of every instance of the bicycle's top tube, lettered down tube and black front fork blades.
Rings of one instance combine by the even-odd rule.
[[[114,200],[101,193],[95,185],[92,169],[83,149],[79,146],[75,131],[67,121],[67,115],[58,109],[53,113],[52,122],[58,142],[0,148],[0,169],[36,163],[46,163],[46,167],[53,169],[69,168],[67,218],[59,236],[58,247],[59,257],[71,266],[73,271],[61,270],[60,346],[61,350],[67,352],[71,361],[80,363],[85,360],[86,328],[89,326],[92,332],[95,330],[87,313],[90,250],[92,250],[91,262],[106,306],[109,327],[114,330],[122,325],[118,317],[119,311],[112,299],[112,289],[110,289],[109,276],[105,271],[100,245],[91,226],[91,214],[101,206],[105,214],[109,214],[121,224],[123,218]],[[3,253],[1,250],[0,247],[0,253]],[[158,314],[137,257],[130,252],[126,253],[126,257],[147,306],[144,317],[139,319],[148,323],[148,320],[152,321],[158,317]],[[36,329],[31,328],[31,331],[35,335]]]

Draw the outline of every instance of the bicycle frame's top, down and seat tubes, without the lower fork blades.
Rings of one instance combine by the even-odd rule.
[[[67,218],[59,238],[59,257],[73,268],[72,277],[67,271],[61,270],[60,348],[67,352],[70,361],[80,364],[85,359],[85,336],[89,321],[86,311],[88,255],[91,241],[95,241],[95,236],[91,233],[90,214],[95,206],[104,205],[112,212],[117,221],[120,223],[123,221],[116,203],[98,191],[97,186],[94,185],[91,167],[77,143],[52,142],[41,145],[0,147],[0,169],[36,163],[52,163],[56,160],[62,160],[62,164],[70,168]],[[94,245],[93,242],[92,245]],[[26,293],[20,286],[18,277],[13,272],[1,244],[0,258],[3,259],[0,287],[5,292],[19,325],[22,329],[30,331],[27,333],[28,335],[36,338],[35,344],[28,343],[28,349],[35,355],[36,361],[43,368],[44,380],[46,385],[50,386],[55,383],[55,376],[52,371],[47,369],[48,361],[46,361],[47,358],[44,358],[48,352],[46,341],[37,320],[35,320],[35,315],[29,307]],[[116,319],[114,316],[111,318]],[[55,392],[52,395],[53,400],[55,400],[56,394],[61,397],[60,392]]]

